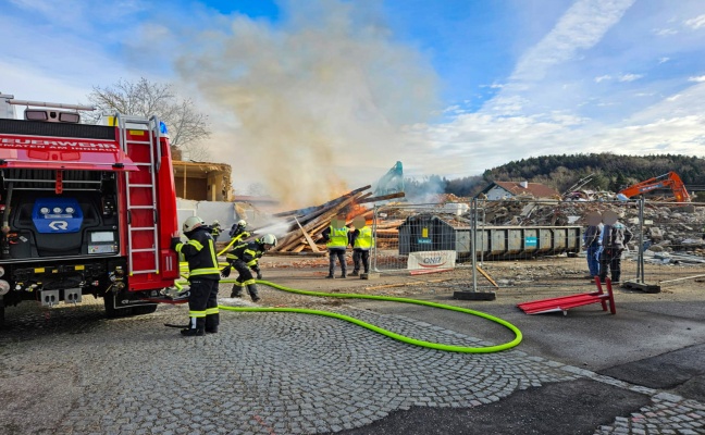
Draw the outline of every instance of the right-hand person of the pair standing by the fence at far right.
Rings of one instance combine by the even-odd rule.
[[[607,210],[603,213],[603,231],[599,237],[602,252],[599,254],[599,281],[605,282],[607,271],[610,272],[613,283],[619,283],[621,278],[621,254],[631,241],[633,234],[618,221],[619,216],[614,211]]]

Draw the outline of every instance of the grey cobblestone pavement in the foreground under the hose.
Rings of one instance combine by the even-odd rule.
[[[445,352],[295,313],[222,312],[220,333],[185,338],[163,326],[184,323],[185,306],[114,320],[103,319],[102,304],[54,310],[50,316],[29,310],[0,333],[2,434],[330,433],[415,406],[481,407],[579,378],[651,397],[595,434],[705,434],[702,402],[528,355],[521,346]],[[488,345],[404,315],[346,304],[332,311],[423,340]]]

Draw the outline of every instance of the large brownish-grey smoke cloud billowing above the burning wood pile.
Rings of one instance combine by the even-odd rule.
[[[261,183],[283,206],[310,206],[405,160],[405,126],[437,109],[436,76],[370,5],[292,0],[281,24],[237,15],[180,49],[181,78],[227,114],[209,148],[238,194]]]

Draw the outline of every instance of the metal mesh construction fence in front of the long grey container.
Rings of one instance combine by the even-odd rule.
[[[412,275],[468,268],[473,290],[585,286],[586,216],[607,211],[633,233],[621,282],[667,285],[705,276],[705,203],[644,199],[379,206],[371,266]]]

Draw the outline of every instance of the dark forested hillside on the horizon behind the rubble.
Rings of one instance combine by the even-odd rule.
[[[634,183],[675,171],[689,185],[705,185],[705,159],[680,156],[618,156],[613,153],[543,156],[521,159],[486,170],[482,175],[446,179],[432,175],[406,181],[407,197],[453,194],[472,197],[493,182],[543,183],[564,192],[581,178],[592,179],[583,188],[618,191]]]

